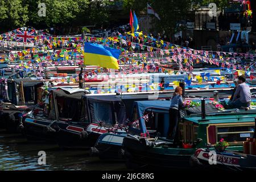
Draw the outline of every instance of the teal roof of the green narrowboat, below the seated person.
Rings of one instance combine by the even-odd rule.
[[[254,122],[256,117],[256,110],[250,111],[233,111],[230,113],[214,113],[207,114],[204,120],[201,115],[186,116],[183,119],[197,124],[214,124],[214,123],[240,123],[240,122]]]

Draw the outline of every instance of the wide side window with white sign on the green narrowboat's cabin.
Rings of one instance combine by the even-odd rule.
[[[254,125],[247,126],[216,126],[217,141],[224,138],[227,142],[236,144],[253,138]]]

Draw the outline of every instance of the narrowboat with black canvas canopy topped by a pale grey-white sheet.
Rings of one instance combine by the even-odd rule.
[[[39,139],[55,142],[56,122],[71,122],[81,117],[81,97],[88,94],[88,90],[79,88],[49,88],[44,98],[44,109],[40,112],[26,114],[22,118],[20,127],[28,139]],[[58,127],[57,127],[58,129]]]

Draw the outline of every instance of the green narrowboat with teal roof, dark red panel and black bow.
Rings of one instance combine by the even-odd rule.
[[[154,114],[151,125],[140,126],[145,132],[154,129],[159,135],[127,135],[123,139],[123,150],[127,167],[134,169],[183,169],[191,168],[191,156],[198,148],[215,144],[220,138],[230,143],[229,150],[243,151],[243,134],[253,135],[255,110],[230,110],[228,113],[205,113],[183,117],[179,122],[178,141],[167,139],[168,110],[151,109]],[[159,122],[160,121],[160,122]],[[159,124],[162,127],[159,127]],[[147,127],[148,126],[148,127]],[[164,129],[164,130],[161,130]]]

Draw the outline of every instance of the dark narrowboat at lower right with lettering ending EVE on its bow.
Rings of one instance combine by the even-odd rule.
[[[256,118],[254,118],[254,121],[256,125]],[[241,125],[240,129],[242,127],[244,126]],[[234,128],[229,130],[222,129],[221,131],[221,133],[225,135],[230,135],[229,133],[233,132],[233,135],[240,134],[240,138],[246,138],[246,141],[243,142],[243,151],[234,151],[229,146],[221,148],[220,150],[220,148],[216,147],[218,143],[215,145],[210,144],[207,148],[199,148],[196,150],[195,155],[191,156],[191,165],[197,168],[224,169],[228,171],[256,171],[255,126],[246,127],[247,131],[245,132],[237,132]],[[223,135],[223,137],[226,137],[225,135]],[[235,139],[236,138],[237,137],[235,137]],[[224,139],[221,139],[220,142],[223,141]],[[233,145],[233,141],[230,141]],[[240,140],[236,139],[236,144],[237,142],[241,143]]]

